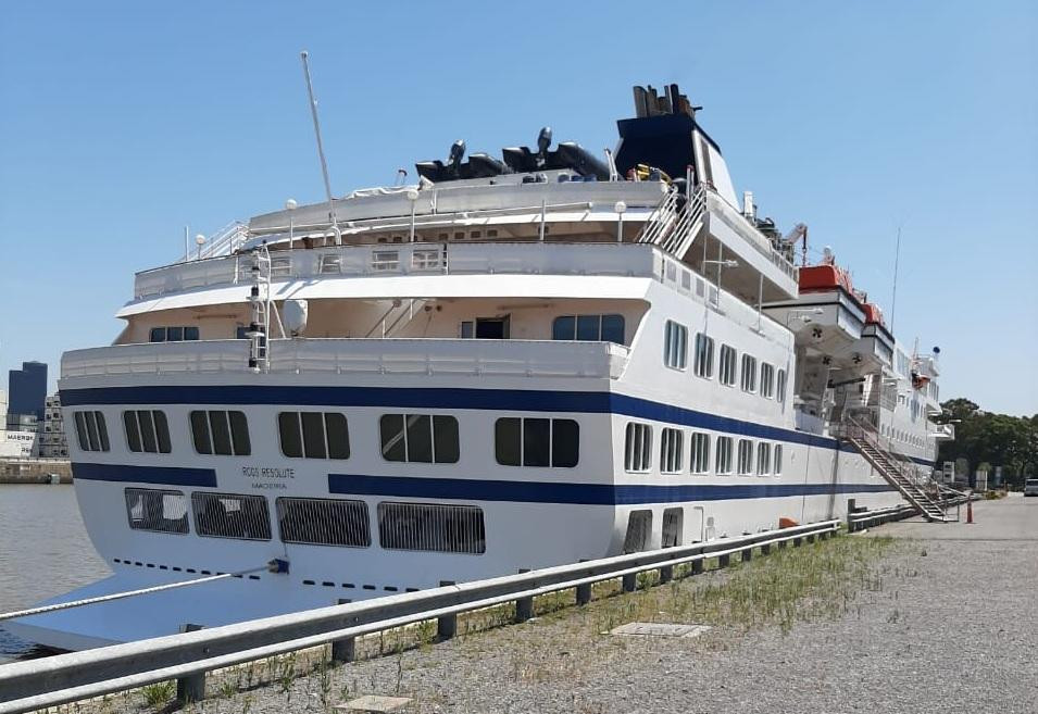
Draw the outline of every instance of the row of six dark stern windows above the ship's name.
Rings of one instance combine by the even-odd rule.
[[[109,451],[104,414],[76,412],[84,451]],[[191,439],[200,454],[252,453],[246,414],[234,410],[192,411]],[[159,410],[123,412],[126,444],[133,452],[170,453],[170,425]],[[280,412],[282,453],[295,459],[349,459],[350,430],[339,412]],[[405,463],[458,463],[458,419],[430,414],[383,414],[378,419],[382,455]],[[580,426],[574,419],[504,417],[495,423],[495,455],[503,466],[572,468],[580,460]]]

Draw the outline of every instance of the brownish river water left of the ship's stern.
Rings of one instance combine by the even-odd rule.
[[[29,607],[110,572],[87,538],[74,487],[0,485],[0,612]],[[0,623],[0,662],[32,648]]]

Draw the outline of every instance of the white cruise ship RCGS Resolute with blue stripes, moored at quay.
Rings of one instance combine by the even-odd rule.
[[[60,381],[113,574],[5,626],[82,649],[908,498],[936,353],[831,254],[737,196],[696,108],[634,90],[600,159],[551,143],[417,164],[138,273]],[[798,265],[798,263],[800,265]],[[265,567],[274,562],[271,572]]]

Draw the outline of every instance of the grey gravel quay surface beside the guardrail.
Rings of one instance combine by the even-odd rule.
[[[1015,512],[1022,502],[1008,505]],[[596,607],[623,602],[612,598],[323,677],[275,681],[193,711],[322,712],[376,693],[414,698],[399,710],[407,713],[1035,714],[1038,502],[1034,506],[1024,512],[1033,538],[898,540],[872,566],[873,576],[862,577],[840,616],[820,615],[785,634],[765,626],[715,627],[696,639],[604,636],[596,631]],[[985,504],[992,514],[997,508]],[[929,526],[946,527],[953,526]],[[725,577],[708,573],[677,587]]]

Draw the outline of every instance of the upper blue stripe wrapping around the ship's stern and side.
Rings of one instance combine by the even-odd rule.
[[[538,389],[450,389],[399,387],[305,387],[184,385],[63,389],[62,404],[286,404],[308,406],[389,406],[399,409],[475,409],[497,412],[572,412],[623,414],[735,436],[840,449],[836,439],[755,422],[654,402],[608,391]],[[853,449],[850,449],[853,451]],[[912,459],[924,466],[933,461]]]

